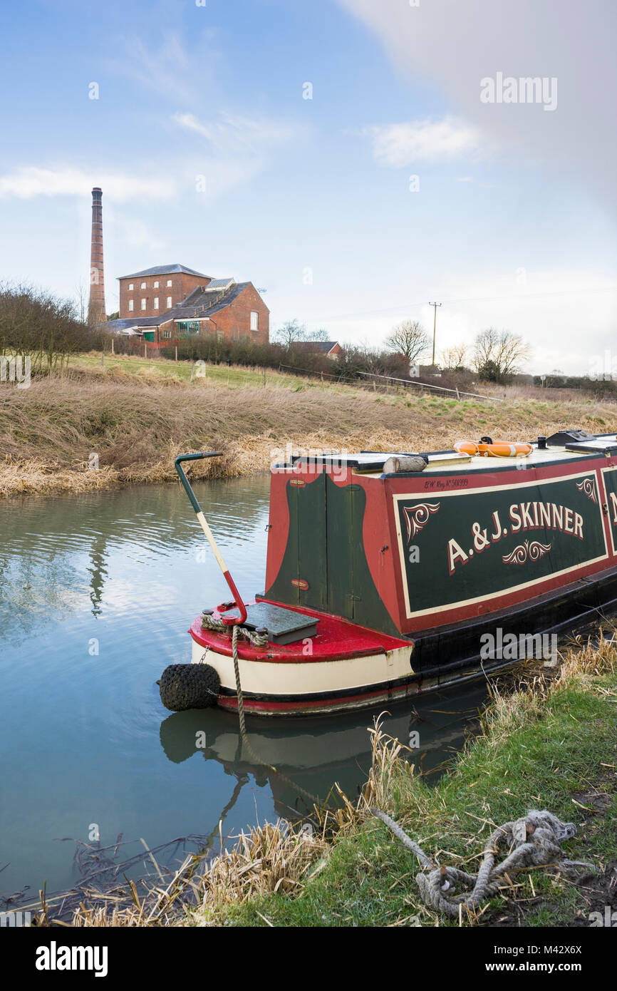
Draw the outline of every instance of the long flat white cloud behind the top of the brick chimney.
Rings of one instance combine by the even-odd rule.
[[[135,199],[172,199],[176,183],[169,176],[139,175],[123,172],[101,172],[98,168],[84,170],[70,165],[38,168],[23,165],[0,174],[0,198],[33,199],[35,196],[85,196],[93,185],[99,185],[104,195],[116,202]]]

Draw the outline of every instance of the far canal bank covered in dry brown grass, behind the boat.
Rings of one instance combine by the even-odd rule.
[[[97,361],[99,365],[97,366]],[[553,400],[506,390],[506,399],[383,394],[261,370],[83,356],[67,375],[0,390],[0,495],[82,492],[175,478],[181,451],[219,448],[194,468],[212,476],[263,471],[272,451],[427,450],[487,432],[523,440],[564,426],[614,429],[615,407],[580,396]],[[91,470],[91,455],[98,470]]]

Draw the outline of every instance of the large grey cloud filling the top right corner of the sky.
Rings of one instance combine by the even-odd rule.
[[[587,0],[338,0],[374,32],[410,82],[431,80],[452,112],[482,135],[510,165],[544,163],[567,175],[617,217],[614,166],[617,131],[609,126],[617,101],[615,6]],[[486,104],[480,81],[506,75],[559,80],[555,113],[541,104]],[[549,171],[551,169],[551,171]]]

